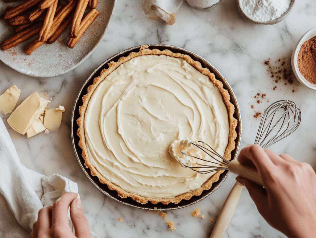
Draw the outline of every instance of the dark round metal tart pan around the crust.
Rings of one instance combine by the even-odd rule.
[[[205,59],[203,59],[201,56],[198,56],[197,54],[190,52],[188,50],[176,47],[176,46],[168,46],[168,45],[160,45],[160,44],[149,44],[149,49],[159,49],[159,50],[165,50],[168,49],[174,53],[181,53],[181,54],[187,54],[189,55],[192,59],[200,62],[203,67],[208,68],[211,72],[213,72],[218,80],[220,80],[224,84],[224,88],[228,90],[228,93],[230,95],[230,102],[235,106],[235,112],[234,112],[234,117],[238,120],[238,124],[236,127],[237,131],[237,138],[235,140],[236,147],[232,151],[232,159],[236,159],[238,151],[239,151],[239,146],[240,146],[240,139],[241,139],[241,117],[240,117],[240,109],[239,105],[236,99],[236,96],[234,95],[233,90],[229,86],[228,82],[225,80],[225,78],[222,76],[220,72],[214,68],[213,65],[211,65],[209,62],[207,62]],[[219,180],[216,183],[213,183],[212,187],[209,190],[204,190],[200,196],[193,196],[189,200],[182,200],[179,204],[151,204],[148,202],[147,204],[140,204],[137,203],[136,201],[132,200],[131,198],[120,198],[118,196],[118,193],[116,191],[110,190],[107,185],[100,183],[98,177],[92,176],[90,174],[90,169],[86,168],[84,165],[84,159],[82,157],[82,149],[79,147],[79,137],[77,136],[77,130],[78,130],[78,125],[76,123],[76,120],[79,118],[79,107],[82,105],[82,96],[87,94],[87,88],[93,83],[93,79],[97,76],[100,76],[100,72],[103,69],[108,68],[107,63],[110,61],[117,62],[120,57],[122,56],[127,56],[130,52],[138,52],[141,46],[135,46],[133,48],[127,49],[125,51],[119,52],[116,55],[113,55],[111,58],[108,58],[105,62],[103,62],[98,68],[94,70],[94,72],[91,74],[91,76],[87,79],[87,81],[83,84],[77,98],[75,101],[75,105],[72,110],[72,117],[71,117],[71,139],[72,139],[72,144],[75,150],[76,157],[78,159],[78,162],[83,170],[83,172],[88,176],[88,178],[91,180],[91,182],[98,188],[100,189],[101,192],[109,196],[110,198],[113,198],[114,200],[121,202],[125,205],[130,205],[132,207],[137,207],[141,209],[146,209],[146,210],[158,210],[158,211],[165,211],[165,210],[175,210],[183,207],[187,207],[191,204],[195,204],[202,199],[206,198],[209,196],[212,192],[214,192],[227,178],[228,176],[228,171],[226,170],[224,173],[220,175]],[[154,209],[156,208],[156,209]]]

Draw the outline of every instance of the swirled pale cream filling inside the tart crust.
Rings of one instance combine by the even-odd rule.
[[[208,76],[182,58],[143,55],[121,64],[94,90],[84,118],[88,156],[109,182],[149,198],[200,188],[214,173],[183,168],[169,154],[184,138],[221,155],[228,113]]]

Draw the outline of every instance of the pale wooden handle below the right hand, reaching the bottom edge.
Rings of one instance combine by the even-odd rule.
[[[232,190],[230,191],[226,201],[222,207],[220,214],[217,217],[217,221],[215,223],[214,229],[210,238],[221,238],[234,215],[234,211],[237,207],[242,185],[236,182]]]

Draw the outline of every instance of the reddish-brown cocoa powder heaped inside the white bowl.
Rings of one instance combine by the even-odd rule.
[[[316,84],[316,36],[304,42],[297,57],[298,68],[308,82]]]

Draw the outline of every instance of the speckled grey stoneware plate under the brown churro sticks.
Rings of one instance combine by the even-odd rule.
[[[54,77],[67,73],[76,68],[88,58],[100,44],[106,29],[111,21],[116,0],[100,0],[97,6],[99,15],[80,38],[80,42],[73,49],[66,43],[68,40],[69,27],[53,44],[43,44],[31,55],[23,50],[36,37],[27,40],[6,51],[0,48],[0,60],[10,68],[33,77]],[[0,1],[0,14],[7,6],[16,6],[21,1],[4,3]],[[0,42],[14,35],[14,27],[11,27],[3,19],[0,19]]]

